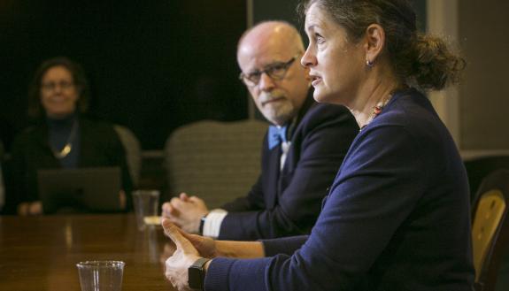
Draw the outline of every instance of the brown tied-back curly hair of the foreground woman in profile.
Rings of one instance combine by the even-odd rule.
[[[457,82],[465,68],[465,60],[441,38],[417,32],[415,12],[407,0],[302,0],[297,6],[301,17],[312,4],[343,27],[352,42],[359,41],[371,24],[383,27],[389,62],[406,84],[442,89]]]

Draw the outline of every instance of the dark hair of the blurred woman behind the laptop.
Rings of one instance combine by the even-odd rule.
[[[76,110],[86,112],[89,110],[89,81],[87,80],[81,65],[73,62],[67,57],[54,57],[42,62],[35,71],[34,78],[28,88],[28,116],[39,119],[44,116],[44,109],[41,104],[41,82],[42,77],[50,68],[56,66],[65,67],[73,75],[74,87],[78,92]]]

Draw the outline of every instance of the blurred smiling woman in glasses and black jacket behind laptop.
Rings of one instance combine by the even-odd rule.
[[[43,213],[37,171],[58,168],[119,166],[120,204],[130,209],[125,149],[112,125],[85,116],[88,105],[89,82],[81,65],[56,57],[39,66],[28,91],[28,115],[35,124],[12,142],[8,195],[19,215]]]

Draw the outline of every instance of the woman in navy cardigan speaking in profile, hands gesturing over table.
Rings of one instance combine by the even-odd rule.
[[[417,89],[442,89],[464,60],[417,32],[405,0],[302,7],[314,99],[345,105],[361,128],[312,233],[211,241],[164,220],[177,247],[166,277],[179,290],[471,291],[467,174]]]

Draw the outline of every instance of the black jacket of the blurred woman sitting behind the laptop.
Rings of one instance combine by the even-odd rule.
[[[120,166],[122,186],[127,195],[127,209],[131,209],[129,176],[125,150],[113,127],[104,122],[80,118],[80,154],[78,167]],[[11,209],[22,202],[39,200],[37,170],[61,168],[48,143],[48,126],[42,122],[28,127],[12,143],[12,160],[6,175],[9,177],[8,203]]]

